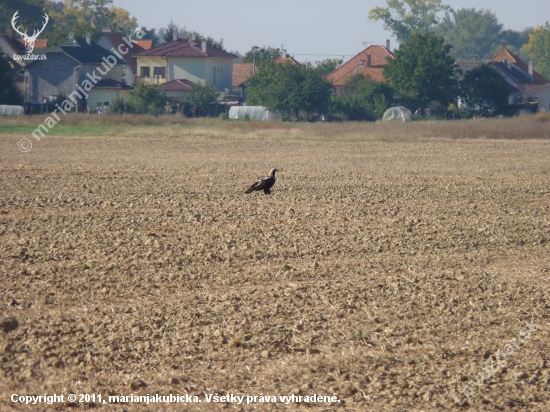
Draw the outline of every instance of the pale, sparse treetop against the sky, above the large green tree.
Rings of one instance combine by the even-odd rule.
[[[401,44],[413,32],[431,31],[439,22],[438,15],[450,10],[441,0],[387,0],[387,7],[375,7],[369,12],[369,20],[382,20],[384,28]]]

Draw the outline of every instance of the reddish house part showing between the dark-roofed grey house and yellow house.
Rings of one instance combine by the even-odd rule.
[[[152,40],[131,40],[133,45],[131,48],[127,44],[128,39],[124,40],[122,31],[114,32],[111,29],[103,29],[101,36],[97,39],[96,44],[108,50],[110,53],[114,50],[118,50],[122,47],[123,50],[131,49],[129,53],[123,54],[122,58],[126,63],[123,68],[123,80],[126,84],[132,86],[135,84],[135,77],[138,74],[137,71],[137,59],[135,54],[149,50],[153,44]]]

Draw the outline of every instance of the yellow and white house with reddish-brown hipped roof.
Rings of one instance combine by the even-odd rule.
[[[188,80],[202,85],[214,85],[218,90],[231,89],[233,79],[232,53],[210,46],[206,41],[178,39],[137,53],[139,82],[164,84],[173,80]]]

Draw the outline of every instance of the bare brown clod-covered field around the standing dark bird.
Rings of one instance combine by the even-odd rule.
[[[549,142],[208,133],[0,139],[2,393],[443,410],[532,319],[466,408],[548,407]],[[244,195],[270,167],[272,195]]]

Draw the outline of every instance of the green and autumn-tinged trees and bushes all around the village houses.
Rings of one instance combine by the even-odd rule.
[[[5,30],[11,16],[20,10],[23,27],[32,27],[46,11],[50,15],[45,37],[50,45],[61,44],[72,32],[83,37],[87,32],[98,37],[105,27],[122,28],[131,33],[138,27],[127,10],[113,6],[112,0],[4,0],[0,3],[0,30]],[[375,120],[384,110],[402,104],[413,111],[429,108],[440,116],[472,116],[474,112],[485,116],[504,113],[508,86],[490,67],[480,67],[465,75],[456,65],[457,59],[484,60],[495,48],[505,44],[511,51],[533,59],[535,69],[550,77],[550,24],[521,32],[504,30],[489,10],[453,10],[441,0],[387,0],[386,7],[373,8],[368,16],[380,20],[400,43],[395,59],[384,68],[385,83],[356,75],[343,87],[340,95],[331,92],[325,76],[341,61],[325,60],[316,64],[276,64],[281,50],[254,46],[243,62],[254,63],[255,75],[247,82],[248,104],[263,105],[279,110],[288,119],[312,120],[324,115],[351,120]],[[223,39],[216,41],[196,32],[180,29],[172,21],[166,28],[147,29],[144,38],[153,44],[171,41],[178,37],[191,37],[223,48]],[[13,87],[13,73],[6,57],[0,54],[0,103],[20,102]],[[142,90],[119,111],[158,113],[166,106],[166,96]],[[197,86],[184,105],[193,115],[207,113],[212,101],[211,86]],[[207,100],[210,101],[208,103]],[[461,99],[470,110],[458,110],[454,103]]]

